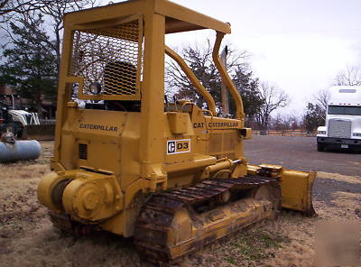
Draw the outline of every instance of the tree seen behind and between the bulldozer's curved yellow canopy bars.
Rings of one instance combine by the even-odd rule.
[[[254,77],[252,70],[247,64],[248,53],[237,51],[232,45],[227,45],[227,72],[233,79],[244,100],[244,110],[247,122],[259,110],[262,101],[258,92],[258,78]],[[209,39],[206,45],[187,45],[180,51],[180,56],[186,61],[200,83],[214,97],[216,105],[220,109],[221,104],[221,78],[218,69],[212,60],[213,43]],[[199,96],[190,83],[189,78],[180,69],[180,66],[173,61],[167,60],[166,65],[166,91],[175,97],[188,99],[198,106],[204,106],[204,99]],[[229,97],[230,114],[234,114],[236,105],[234,99]]]

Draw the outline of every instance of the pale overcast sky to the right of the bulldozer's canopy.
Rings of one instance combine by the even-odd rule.
[[[347,66],[361,67],[361,0],[173,0],[231,23],[225,42],[250,53],[255,76],[291,97],[282,114],[301,115],[311,96]],[[170,34],[171,47],[214,33]]]

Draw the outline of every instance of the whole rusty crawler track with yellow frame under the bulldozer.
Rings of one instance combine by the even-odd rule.
[[[280,209],[273,178],[214,179],[154,194],[135,224],[134,241],[150,262],[178,262],[186,253],[266,218]]]

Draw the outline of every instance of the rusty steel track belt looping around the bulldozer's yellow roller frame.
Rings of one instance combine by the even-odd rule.
[[[174,230],[173,218],[180,209],[193,210],[204,207],[206,203],[211,208],[222,206],[227,202],[222,201],[225,192],[246,192],[249,189],[258,189],[263,185],[271,186],[271,198],[268,201],[259,201],[258,204],[246,202],[252,206],[250,216],[234,219],[234,223],[222,230],[222,235],[211,235],[183,242],[180,246],[170,245],[170,232]],[[255,192],[255,190],[253,190]],[[242,193],[241,193],[242,195]],[[253,198],[254,195],[251,197]],[[232,201],[232,198],[230,198]],[[223,202],[223,203],[222,203]],[[245,204],[242,204],[245,205]],[[258,205],[258,206],[257,206]],[[143,206],[135,225],[134,241],[138,253],[144,260],[150,262],[177,262],[180,257],[211,243],[214,240],[228,235],[239,228],[248,226],[268,216],[273,216],[281,205],[281,192],[278,181],[272,178],[247,176],[240,179],[215,179],[204,180],[196,186],[168,192],[154,194]],[[226,206],[226,205],[224,205]],[[256,207],[259,207],[258,209]],[[233,207],[232,207],[233,208]],[[245,207],[243,210],[245,211]],[[248,211],[248,210],[247,210]],[[192,217],[193,219],[193,217]]]

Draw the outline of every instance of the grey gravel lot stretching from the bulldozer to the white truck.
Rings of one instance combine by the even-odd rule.
[[[361,175],[361,153],[318,152],[316,137],[255,135],[245,142],[245,157],[252,164],[279,164],[294,170]]]

